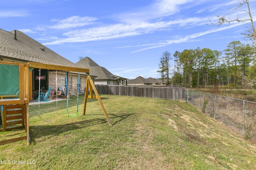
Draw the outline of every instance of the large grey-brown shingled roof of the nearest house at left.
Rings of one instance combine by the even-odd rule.
[[[0,59],[11,62],[36,62],[77,67],[68,59],[58,55],[21,31],[0,29]]]

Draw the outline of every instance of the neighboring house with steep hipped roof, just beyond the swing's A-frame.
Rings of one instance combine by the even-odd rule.
[[[127,78],[113,75],[106,68],[99,66],[89,57],[85,57],[84,59],[78,61],[76,64],[81,68],[88,68],[90,70],[90,74],[97,76],[94,79],[94,84],[104,84],[104,85],[126,84]]]

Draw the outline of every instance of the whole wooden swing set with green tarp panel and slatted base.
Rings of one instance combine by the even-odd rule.
[[[89,69],[33,62],[24,64],[0,61],[0,79],[2,82],[2,85],[0,85],[0,105],[2,106],[2,129],[0,129],[0,133],[1,131],[12,129],[25,129],[26,131],[26,136],[6,140],[0,139],[2,140],[0,141],[0,145],[24,139],[27,140],[27,145],[30,144],[29,102],[32,100],[32,70],[34,68],[64,71],[68,72],[68,74],[69,72],[86,73],[87,78],[83,114],[85,115],[86,113],[87,99],[98,99],[108,124],[112,125],[106,109],[102,104],[101,97],[90,77]],[[92,90],[94,91],[95,96]],[[88,95],[88,92],[90,95]]]

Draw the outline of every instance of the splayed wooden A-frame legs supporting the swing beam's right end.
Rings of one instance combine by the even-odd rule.
[[[91,76],[89,75],[89,74],[87,74],[87,79],[86,79],[86,90],[89,88],[89,90],[90,90],[90,98],[94,98],[93,97],[93,94],[92,94],[92,89],[94,90],[94,93],[96,94],[96,98],[98,99],[98,102],[100,103],[100,106],[101,106],[101,108],[102,108],[102,111],[103,111],[103,113],[104,113],[104,115],[105,115],[105,117],[106,117],[106,119],[107,119],[107,121],[108,121],[108,124],[111,126],[112,125],[112,123],[111,123],[111,121],[110,121],[110,119],[109,119],[109,117],[108,117],[108,113],[107,113],[107,111],[106,111],[106,109],[105,109],[105,107],[104,107],[104,105],[103,105],[103,103],[102,103],[102,101],[101,101],[101,98],[100,98],[100,96],[99,96],[99,94],[98,94],[98,92],[97,92],[97,89],[96,89],[96,87],[94,86],[94,83],[93,83],[93,81],[92,81],[92,78],[91,78]],[[85,92],[86,94],[85,94],[85,100],[84,100],[84,102],[87,102],[87,98],[88,98],[88,91],[86,91]],[[86,103],[84,103],[84,115],[85,115],[85,109],[86,109]]]

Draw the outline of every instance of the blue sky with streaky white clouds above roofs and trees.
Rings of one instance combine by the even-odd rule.
[[[223,51],[244,40],[246,27],[208,25],[237,0],[1,0],[0,29],[17,29],[76,63],[90,57],[112,74],[160,78],[164,51]],[[250,0],[256,16],[256,0]],[[246,7],[246,6],[245,6]],[[248,18],[242,11],[229,14]],[[174,67],[172,59],[170,63]]]

